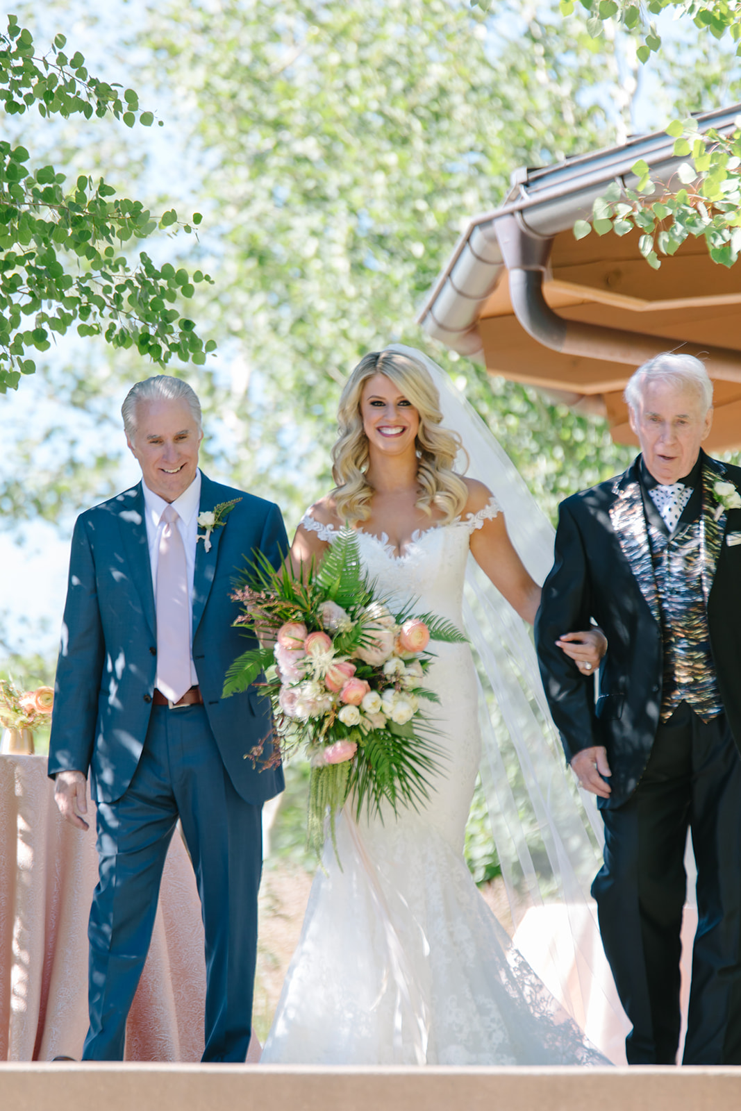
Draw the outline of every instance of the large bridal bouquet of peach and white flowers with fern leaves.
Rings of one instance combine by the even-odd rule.
[[[309,842],[319,854],[329,809],[334,821],[352,794],[394,813],[428,797],[425,773],[437,767],[434,729],[422,710],[438,697],[424,687],[430,640],[465,638],[448,621],[411,608],[392,612],[362,571],[358,538],[346,528],[317,569],[303,577],[276,571],[258,553],[232,597],[236,624],[269,647],[239,657],[223,694],[246,690],[264,671],[273,710],[274,760],[304,751],[311,763]],[[262,745],[247,753],[257,762]]]

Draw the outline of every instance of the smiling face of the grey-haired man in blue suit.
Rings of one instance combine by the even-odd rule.
[[[140,401],[137,431],[128,444],[153,493],[172,502],[196,478],[203,433],[186,401]]]

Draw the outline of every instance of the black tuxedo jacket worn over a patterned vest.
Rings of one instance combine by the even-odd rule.
[[[741,509],[725,510],[715,491],[741,491],[741,468],[701,453],[702,520],[708,556],[703,589],[718,682],[741,749]],[[603,744],[612,770],[615,808],[638,785],[659,724],[663,643],[643,508],[640,456],[608,482],[568,498],[559,509],[555,561],[543,584],[535,639],[543,685],[567,759]],[[569,630],[594,619],[608,638],[593,679],[555,645]]]

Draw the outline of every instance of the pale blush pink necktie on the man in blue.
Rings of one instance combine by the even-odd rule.
[[[157,685],[171,702],[190,689],[190,598],[178,512],[162,513],[157,563]]]

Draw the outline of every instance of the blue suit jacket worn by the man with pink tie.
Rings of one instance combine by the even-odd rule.
[[[252,687],[222,699],[224,673],[256,647],[232,628],[239,614],[230,592],[252,552],[278,567],[288,550],[280,510],[272,502],[202,474],[200,511],[241,500],[211,534],[211,550],[196,546],[193,663],[203,704],[229,777],[248,802],[283,789],[280,768],[246,758],[271,735],[270,707]],[[49,774],[92,769],[93,797],[114,802],[139,762],[152,711],[157,623],[141,482],[82,513],[72,537],[62,642],[57,665]],[[179,711],[170,711],[178,713]]]

